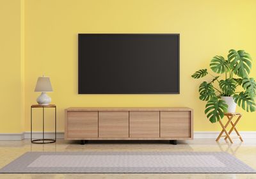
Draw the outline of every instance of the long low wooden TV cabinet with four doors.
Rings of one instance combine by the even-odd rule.
[[[188,107],[70,107],[65,109],[66,140],[193,139]]]

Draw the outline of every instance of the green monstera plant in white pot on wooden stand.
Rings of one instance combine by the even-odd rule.
[[[210,68],[215,74],[202,69],[195,72],[192,77],[212,77],[211,81],[204,81],[199,86],[199,98],[207,102],[205,114],[212,123],[223,118],[224,113],[235,113],[236,105],[247,112],[255,111],[256,82],[249,77],[252,68],[250,54],[232,49],[227,59],[223,56],[214,56]]]

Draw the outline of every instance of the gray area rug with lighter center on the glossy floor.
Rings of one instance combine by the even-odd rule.
[[[256,173],[226,152],[28,152],[0,173]]]

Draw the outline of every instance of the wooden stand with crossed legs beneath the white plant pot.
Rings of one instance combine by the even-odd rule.
[[[225,137],[225,140],[228,139],[228,140],[230,141],[230,143],[233,143],[233,141],[232,141],[232,139],[231,139],[231,137],[230,137],[229,135],[231,134],[231,132],[232,132],[233,130],[235,130],[237,136],[238,136],[239,139],[243,142],[242,137],[240,136],[239,132],[238,132],[237,129],[236,129],[236,125],[237,125],[238,121],[240,120],[240,118],[242,117],[242,114],[241,114],[241,113],[227,113],[227,114],[225,114],[225,116],[227,116],[228,121],[227,121],[226,125],[224,126],[223,123],[221,122],[221,120],[219,120],[219,123],[220,123],[220,125],[221,125],[221,127],[222,127],[222,130],[221,130],[219,136],[217,137],[216,141],[219,141],[219,140],[220,140],[220,137]],[[234,116],[238,116],[238,118],[237,118],[237,120],[235,121],[235,123],[232,122],[232,119],[234,118]],[[229,123],[231,123],[232,127],[231,127],[230,130],[227,132],[227,127],[228,127]],[[225,136],[222,136],[223,132],[225,132],[225,134],[226,134]]]

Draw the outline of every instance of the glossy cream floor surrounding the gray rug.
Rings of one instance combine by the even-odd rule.
[[[0,167],[26,152],[85,152],[85,151],[169,151],[169,152],[228,152],[256,169],[256,139],[234,139],[234,144],[225,143],[223,139],[216,143],[214,139],[194,139],[178,141],[177,145],[168,141],[90,141],[81,145],[79,142],[58,139],[52,144],[31,144],[23,141],[0,141]],[[0,174],[0,178],[256,178],[256,174]]]

